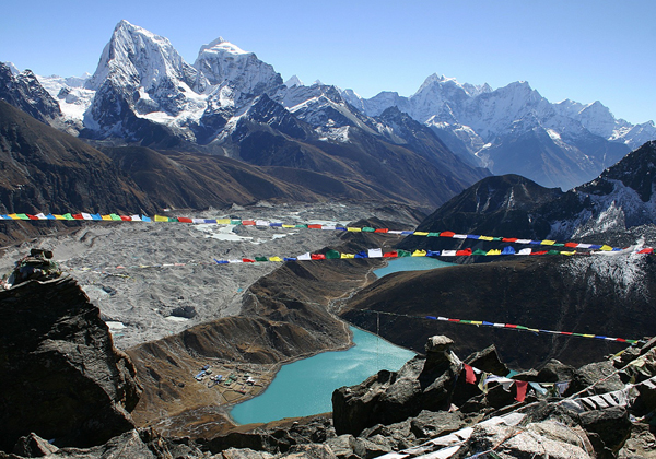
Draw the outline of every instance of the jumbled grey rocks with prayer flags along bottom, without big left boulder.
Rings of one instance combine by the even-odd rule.
[[[542,378],[562,376],[575,381],[563,396],[542,395],[534,390],[534,386],[523,401],[515,400],[517,395],[504,390],[499,382],[491,382],[487,392],[481,391],[467,376],[462,363],[484,373],[507,370],[494,348],[460,362],[450,350],[452,344],[447,337],[431,338],[426,355],[413,358],[398,374],[390,373],[388,379],[395,382],[386,387],[378,384],[378,374],[350,390],[339,389],[335,397],[335,420],[317,415],[250,428],[241,426],[211,439],[175,439],[150,428],[131,429],[90,448],[58,448],[31,434],[19,439],[13,454],[0,451],[0,459],[626,459],[656,456],[656,437],[647,424],[656,392],[653,342],[578,369],[551,361],[540,372],[515,375],[515,381],[544,381]],[[611,382],[606,384],[608,381]],[[427,382],[432,384],[422,389]],[[625,398],[618,397],[613,390],[618,385],[625,391]],[[438,387],[444,390],[435,390]],[[573,393],[574,390],[577,391]],[[499,392],[505,393],[505,400]],[[349,393],[350,398],[340,393]],[[469,399],[472,395],[477,403]],[[415,407],[420,399],[444,409],[421,409],[408,416],[398,414],[402,420],[390,423],[388,420],[394,416],[383,408],[391,407],[393,399],[406,413],[414,413],[405,405]],[[358,416],[368,416],[370,426],[358,427],[361,432],[356,434],[344,432],[343,419],[338,419],[339,410],[342,415],[350,412],[350,420],[360,424],[364,423]]]

